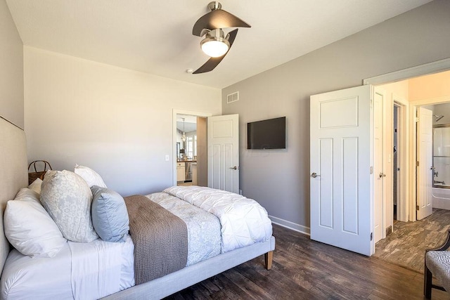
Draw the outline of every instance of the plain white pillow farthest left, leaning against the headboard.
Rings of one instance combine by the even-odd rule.
[[[67,240],[39,202],[39,195],[20,189],[14,200],[6,203],[5,235],[15,249],[31,257],[53,257]]]

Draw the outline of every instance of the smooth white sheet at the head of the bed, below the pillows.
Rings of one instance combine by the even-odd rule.
[[[1,299],[98,299],[118,292],[134,285],[133,251],[131,237],[68,242],[52,258],[32,259],[13,249],[1,275]]]

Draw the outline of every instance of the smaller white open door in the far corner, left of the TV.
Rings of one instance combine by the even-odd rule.
[[[208,117],[208,187],[239,193],[239,115]]]

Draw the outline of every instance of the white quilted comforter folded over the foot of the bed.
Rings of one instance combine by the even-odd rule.
[[[224,190],[200,186],[173,186],[165,193],[214,214],[221,223],[221,252],[265,242],[272,235],[267,211],[258,202]]]

